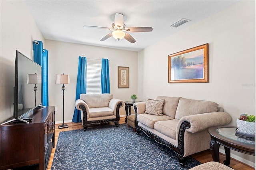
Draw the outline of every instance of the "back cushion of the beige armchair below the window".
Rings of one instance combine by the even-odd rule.
[[[109,101],[113,98],[112,94],[80,94],[80,99],[85,101],[89,108],[108,107]]]

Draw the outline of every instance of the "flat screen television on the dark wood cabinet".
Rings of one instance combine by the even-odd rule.
[[[14,119],[22,117],[42,104],[42,68],[16,50],[14,87]]]

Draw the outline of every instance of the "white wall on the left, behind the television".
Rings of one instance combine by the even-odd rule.
[[[16,50],[30,59],[33,40],[44,37],[22,1],[0,1],[0,122],[13,115]]]

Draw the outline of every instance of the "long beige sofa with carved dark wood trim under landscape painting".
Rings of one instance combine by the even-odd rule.
[[[211,101],[158,96],[133,106],[137,133],[143,131],[174,150],[182,166],[187,156],[210,148],[209,127],[231,122],[230,115]]]

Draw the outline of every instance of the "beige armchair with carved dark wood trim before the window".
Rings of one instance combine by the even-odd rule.
[[[120,120],[119,109],[124,102],[113,99],[112,94],[80,94],[76,100],[76,109],[81,111],[82,125],[84,131],[90,125],[99,125],[113,122],[116,127]]]

